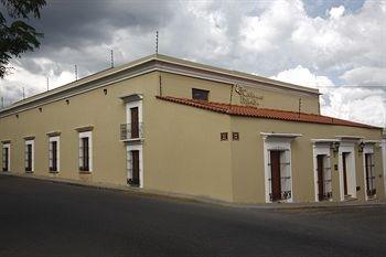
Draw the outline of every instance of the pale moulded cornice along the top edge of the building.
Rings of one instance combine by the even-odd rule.
[[[181,74],[226,84],[243,84],[245,86],[269,90],[286,90],[287,93],[300,95],[320,95],[319,90],[313,88],[307,88],[266,77],[193,63],[165,55],[153,54],[116,68],[101,71],[52,90],[31,96],[24,100],[17,101],[11,106],[1,109],[0,118],[53,101],[63,100],[78,94],[83,94],[99,87],[105,87],[154,71]]]

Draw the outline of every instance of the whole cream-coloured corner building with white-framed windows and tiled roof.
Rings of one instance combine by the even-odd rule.
[[[382,129],[319,96],[151,55],[2,109],[0,164],[238,203],[384,199]]]

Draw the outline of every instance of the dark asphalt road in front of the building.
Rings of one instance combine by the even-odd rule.
[[[0,175],[0,256],[386,256],[386,207],[242,210]]]

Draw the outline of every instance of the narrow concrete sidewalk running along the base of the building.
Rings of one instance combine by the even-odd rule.
[[[206,196],[187,195],[180,193],[168,193],[157,190],[138,189],[127,185],[118,185],[110,183],[98,183],[98,182],[85,182],[78,180],[69,180],[63,178],[50,178],[36,174],[22,174],[22,173],[1,173],[6,176],[18,176],[28,178],[34,180],[49,181],[53,183],[65,183],[77,186],[89,186],[103,190],[116,190],[124,191],[132,194],[141,194],[149,197],[163,197],[174,201],[187,201],[197,203],[216,204],[227,207],[238,207],[238,208],[264,208],[264,210],[321,210],[321,208],[346,208],[346,207],[374,207],[374,206],[385,206],[386,201],[372,200],[368,202],[358,201],[347,201],[347,202],[318,202],[318,203],[256,203],[256,204],[244,204],[244,203],[230,203],[226,201],[210,199]]]

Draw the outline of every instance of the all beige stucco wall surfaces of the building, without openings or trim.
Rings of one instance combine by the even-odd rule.
[[[162,73],[164,96],[191,98],[191,89],[211,90],[210,99],[228,103],[232,86],[181,75]],[[119,141],[119,125],[126,122],[126,108],[120,96],[142,94],[143,107],[143,184],[183,194],[204,195],[233,202],[265,202],[264,151],[260,132],[298,132],[293,140],[292,181],[296,202],[314,200],[313,152],[311,139],[334,138],[337,135],[362,136],[379,140],[379,130],[289,122],[271,119],[232,117],[189,106],[157,99],[159,73],[141,75],[85,94],[69,97],[0,119],[0,140],[11,140],[11,170],[24,173],[24,139],[35,137],[35,174],[49,173],[49,137],[61,131],[57,174],[66,179],[89,179],[94,182],[126,184],[126,144]],[[258,89],[262,107],[298,110],[299,95]],[[233,104],[240,104],[233,93]],[[318,98],[302,98],[302,111],[318,113]],[[75,128],[93,126],[93,173],[84,178],[78,172],[78,133]],[[232,141],[232,131],[239,132],[239,141]],[[221,141],[221,132],[229,132],[228,141]],[[375,148],[376,173],[380,151]],[[362,158],[356,158],[358,196],[364,193]],[[1,164],[0,160],[0,164]],[[333,159],[332,165],[336,161]],[[334,200],[339,200],[337,172],[333,174]],[[384,195],[377,175],[378,195]],[[379,188],[380,186],[380,188]],[[380,191],[379,191],[380,190]],[[362,196],[361,196],[362,195]]]

